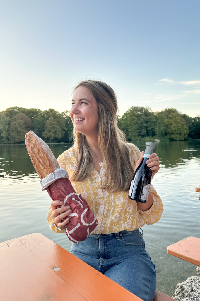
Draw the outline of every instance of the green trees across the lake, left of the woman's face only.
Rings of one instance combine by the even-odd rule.
[[[46,142],[69,142],[73,123],[69,111],[10,107],[0,112],[1,143],[24,143],[32,130]]]

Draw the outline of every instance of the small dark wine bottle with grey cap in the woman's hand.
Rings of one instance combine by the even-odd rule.
[[[142,162],[137,167],[131,181],[128,197],[137,202],[146,203],[151,187],[152,170],[147,166],[148,156],[153,153],[155,143],[147,142]]]

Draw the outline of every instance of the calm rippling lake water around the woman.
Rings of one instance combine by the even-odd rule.
[[[139,149],[145,145],[136,143]],[[69,144],[51,144],[58,157]],[[183,151],[186,150],[186,151]],[[196,266],[166,253],[166,247],[187,236],[200,238],[200,141],[157,143],[161,168],[153,185],[163,200],[164,212],[157,224],[145,225],[146,249],[157,270],[157,289],[170,296],[177,283],[195,275]],[[50,231],[46,222],[51,199],[41,191],[25,145],[0,145],[0,242],[30,233],[42,233],[70,250],[65,234]]]

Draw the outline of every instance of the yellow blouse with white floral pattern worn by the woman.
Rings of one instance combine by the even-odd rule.
[[[134,169],[135,163],[140,157],[140,151],[134,144],[127,143],[131,165]],[[67,170],[71,177],[76,168],[76,148],[73,145],[58,157],[60,167]],[[99,224],[92,233],[109,234],[123,230],[132,231],[143,225],[154,224],[159,221],[163,213],[163,205],[157,192],[151,185],[151,193],[154,198],[153,205],[147,211],[137,207],[137,202],[128,198],[128,191],[112,193],[101,189],[105,182],[106,166],[103,162],[100,173],[93,169],[90,176],[82,182],[71,182],[77,194],[88,202],[91,211],[96,216]],[[51,207],[47,214],[47,221],[55,233],[65,232],[64,229],[55,225],[51,217]]]

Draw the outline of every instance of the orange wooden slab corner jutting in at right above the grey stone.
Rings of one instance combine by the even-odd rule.
[[[186,237],[167,247],[167,253],[200,266],[200,238]]]

